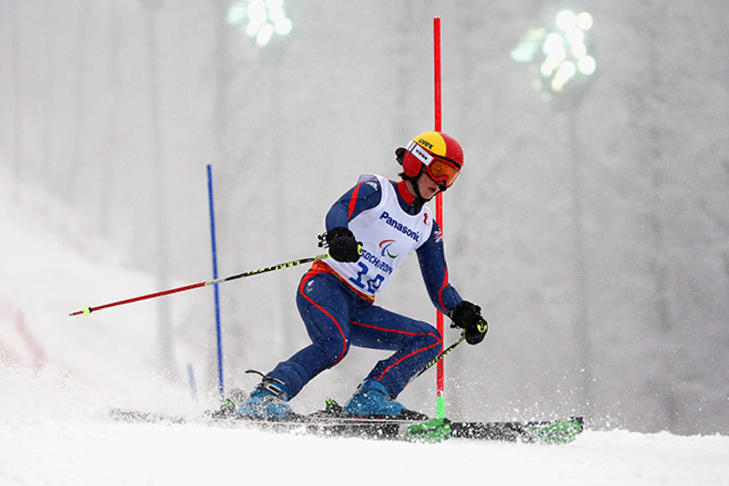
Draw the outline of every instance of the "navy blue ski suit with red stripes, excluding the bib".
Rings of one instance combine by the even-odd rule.
[[[402,209],[416,215],[405,181],[393,184]],[[347,227],[362,211],[381,200],[379,184],[358,184],[337,200],[327,213],[327,230]],[[443,239],[434,223],[429,238],[416,250],[421,274],[433,304],[448,313],[461,297],[448,283]],[[356,235],[355,235],[356,236]],[[443,337],[424,321],[405,317],[374,305],[346,283],[324,262],[315,262],[303,276],[296,303],[312,344],[295,353],[268,373],[286,384],[292,399],[313,377],[333,367],[346,356],[350,346],[395,351],[378,361],[365,379],[378,380],[392,399],[402,392],[410,377],[420,371],[443,348]]]

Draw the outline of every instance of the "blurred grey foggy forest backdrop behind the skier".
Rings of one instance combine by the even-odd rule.
[[[446,359],[448,415],[729,433],[729,5],[570,5],[594,20],[597,67],[566,109],[510,55],[558,7],[4,0],[0,163],[57,201],[18,205],[160,289],[210,275],[208,163],[221,275],[316,254],[333,200],[360,173],[394,178],[394,149],[432,129],[438,15],[443,127],[466,156],[444,197],[449,275],[491,326]],[[260,8],[290,31],[265,39]],[[221,287],[229,386],[308,342],[301,273]],[[434,321],[414,258],[378,304]],[[155,305],[165,372],[192,361],[214,391],[211,293]],[[346,399],[380,353],[351,350],[297,407]],[[432,412],[434,390],[433,373],[401,398]]]

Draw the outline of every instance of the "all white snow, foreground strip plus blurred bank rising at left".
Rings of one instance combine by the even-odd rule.
[[[112,407],[192,418],[214,400],[157,377],[152,305],[68,315],[79,299],[153,291],[151,275],[109,264],[103,243],[55,235],[57,206],[39,218],[0,189],[0,485],[729,484],[729,437],[719,435],[588,430],[558,446],[410,444],[114,422]]]

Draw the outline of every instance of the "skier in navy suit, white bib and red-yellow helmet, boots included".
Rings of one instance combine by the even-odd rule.
[[[319,245],[328,246],[330,257],[305,273],[296,297],[312,344],[263,375],[235,409],[237,414],[284,418],[292,413],[287,401],[324,369],[338,364],[354,345],[394,354],[375,364],[342,411],[362,417],[407,417],[410,411],[395,399],[410,377],[437,356],[443,337],[432,325],[378,307],[374,300],[413,251],[429,297],[451,318],[451,327],[464,329],[472,345],[486,336],[488,325],[480,307],[461,299],[448,283],[443,235],[425,207],[459,176],[461,146],[445,133],[426,132],[395,154],[402,180],[360,176],[327,213],[327,231]]]

